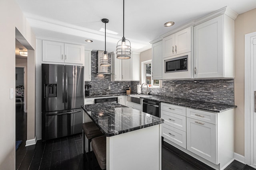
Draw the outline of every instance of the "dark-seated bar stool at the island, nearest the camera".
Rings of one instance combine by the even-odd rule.
[[[92,151],[97,158],[100,168],[106,169],[106,137],[96,137],[92,139]],[[94,169],[94,156],[92,158],[92,169]]]

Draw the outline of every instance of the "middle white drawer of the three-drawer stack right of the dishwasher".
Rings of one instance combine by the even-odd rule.
[[[164,119],[166,125],[175,127],[186,132],[186,116],[170,113],[168,111],[161,111],[161,118]]]

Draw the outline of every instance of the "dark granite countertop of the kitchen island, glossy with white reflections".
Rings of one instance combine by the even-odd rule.
[[[164,123],[159,117],[117,103],[89,104],[82,108],[107,137]]]

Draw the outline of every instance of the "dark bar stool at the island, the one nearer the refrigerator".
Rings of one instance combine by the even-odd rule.
[[[86,122],[83,123],[83,148],[85,145],[85,136],[88,139],[88,153],[91,150],[90,143],[94,137],[102,136],[103,133],[100,131],[100,129],[96,126],[94,122]],[[83,149],[83,154],[85,154],[86,151]]]

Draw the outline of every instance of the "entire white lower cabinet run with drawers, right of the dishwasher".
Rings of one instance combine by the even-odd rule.
[[[164,141],[217,170],[234,160],[234,109],[212,113],[161,103]]]

